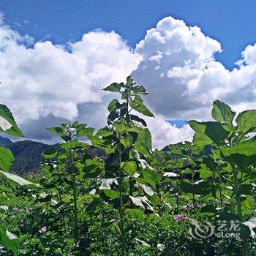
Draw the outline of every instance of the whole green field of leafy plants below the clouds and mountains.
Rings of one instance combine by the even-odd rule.
[[[128,77],[104,90],[116,95],[106,126],[48,128],[62,142],[41,174],[10,173],[0,146],[0,255],[256,255],[256,110],[214,100],[214,121],[188,121],[192,142],[159,151],[146,89]],[[0,132],[23,136],[5,105]]]

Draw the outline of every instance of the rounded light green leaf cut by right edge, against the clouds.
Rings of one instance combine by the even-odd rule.
[[[246,110],[236,118],[237,128],[244,134],[256,132],[256,110]]]

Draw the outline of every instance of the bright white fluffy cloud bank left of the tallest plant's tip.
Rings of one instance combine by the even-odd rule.
[[[140,59],[114,32],[94,31],[69,51],[52,42],[27,40],[0,28],[1,102],[12,108],[20,123],[49,115],[78,117],[78,105],[102,102],[101,89],[113,80],[124,80]]]

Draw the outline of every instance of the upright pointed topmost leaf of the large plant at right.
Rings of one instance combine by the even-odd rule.
[[[224,102],[219,100],[214,100],[214,108],[211,111],[211,116],[220,122],[226,122],[227,124],[232,124],[233,118],[236,113]]]

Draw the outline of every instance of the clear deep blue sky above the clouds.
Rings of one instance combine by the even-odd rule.
[[[256,42],[256,1],[28,1],[1,0],[6,22],[36,41],[50,39],[63,44],[78,41],[87,31],[114,30],[130,46],[143,39],[146,29],[168,15],[199,26],[217,39],[222,53],[216,59],[232,69],[241,51]]]

